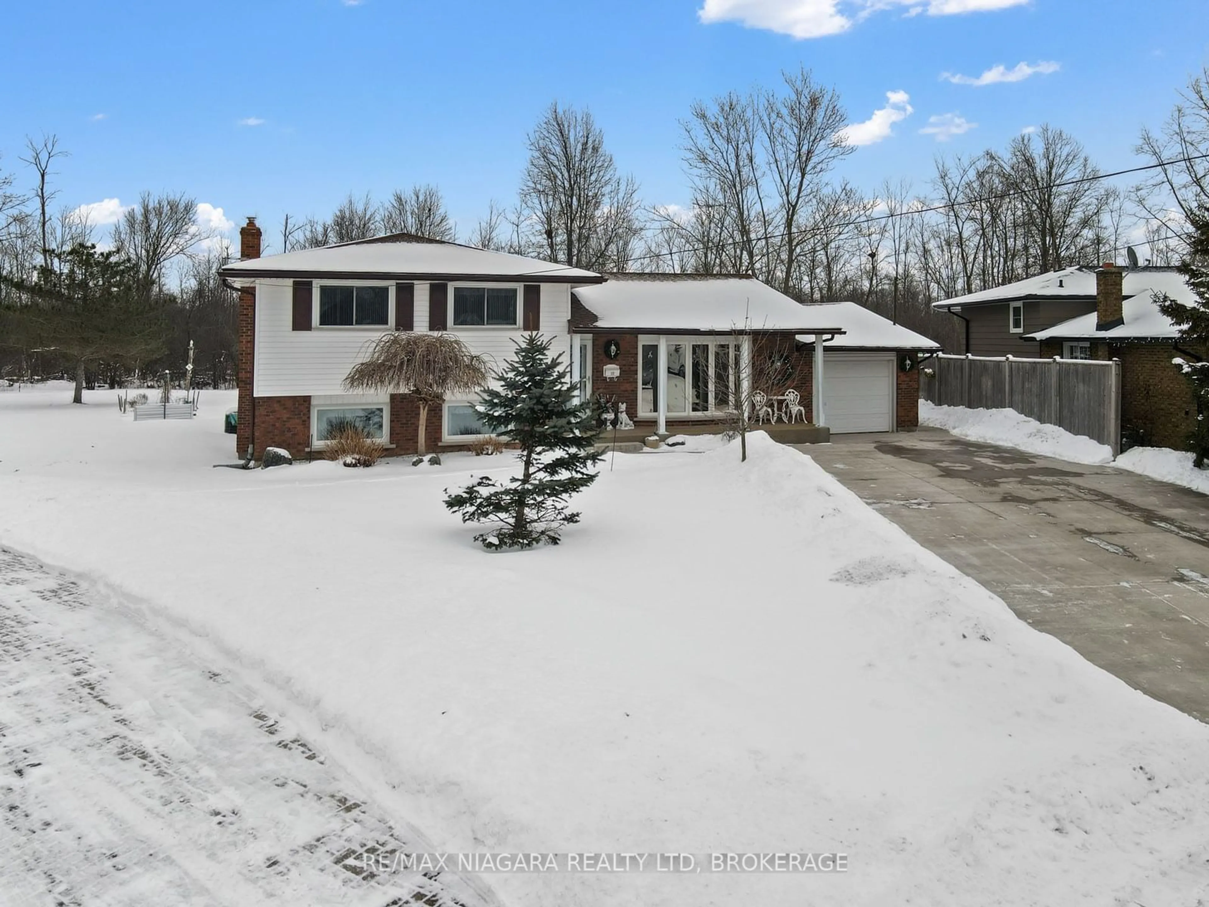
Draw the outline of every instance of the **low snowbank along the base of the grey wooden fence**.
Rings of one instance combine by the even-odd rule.
[[[919,423],[951,432],[959,438],[984,444],[1002,444],[1043,457],[1072,463],[1111,463],[1112,449],[1058,426],[1022,416],[1016,410],[983,410],[965,406],[937,406],[919,401]]]

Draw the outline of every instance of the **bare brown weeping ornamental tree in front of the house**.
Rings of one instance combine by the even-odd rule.
[[[418,454],[424,454],[428,409],[451,394],[479,391],[487,383],[487,363],[452,334],[397,330],[372,341],[365,358],[345,377],[352,393],[394,393],[420,401]]]

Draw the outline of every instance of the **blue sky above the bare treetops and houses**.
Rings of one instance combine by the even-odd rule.
[[[413,183],[438,184],[465,232],[490,198],[511,202],[525,134],[555,99],[592,111],[648,203],[684,203],[689,104],[799,65],[838,88],[854,123],[892,111],[844,164],[870,193],[906,178],[927,195],[936,152],[1002,148],[1042,122],[1117,169],[1209,62],[1205,0],[11,6],[0,171],[28,184],[24,137],[53,132],[71,152],[62,204],[186,191],[222,209],[214,223],[255,214],[271,235],[284,212],[325,216],[349,191]],[[967,83],[996,65],[1031,75]]]

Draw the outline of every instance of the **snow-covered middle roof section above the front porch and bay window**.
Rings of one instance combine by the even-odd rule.
[[[843,333],[834,310],[799,305],[742,275],[609,275],[574,295],[588,310],[585,330]]]

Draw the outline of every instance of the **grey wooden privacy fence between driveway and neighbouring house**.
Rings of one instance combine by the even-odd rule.
[[[930,374],[931,372],[931,374]],[[939,406],[1012,409],[1121,452],[1121,360],[939,354],[921,363],[919,394]]]

